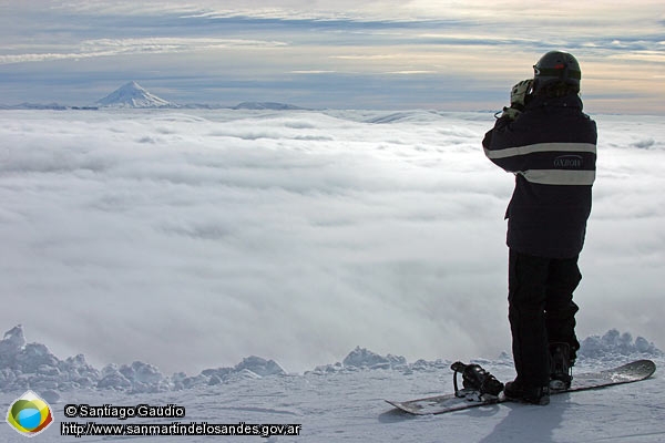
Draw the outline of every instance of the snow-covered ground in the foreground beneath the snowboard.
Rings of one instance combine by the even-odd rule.
[[[662,367],[663,352],[644,338],[611,330],[583,341],[576,371],[584,372],[649,358]],[[511,360],[478,360],[499,379],[514,377]],[[273,435],[269,442],[662,442],[665,439],[665,381],[658,372],[644,382],[552,396],[548,406],[503,403],[438,416],[411,416],[383,399],[412,399],[452,391],[451,361],[408,362],[356,348],[341,362],[288,374],[278,363],[252,357],[235,368],[208,369],[198,375],[162,375],[143,362],[108,365],[101,371],[83,356],[62,361],[40,343],[24,343],[21,328],[0,341],[0,404],[8,409],[27,389],[53,408],[55,421],[39,441],[79,441],[72,423],[130,426],[174,422],[213,425],[293,425],[298,435]],[[100,419],[65,416],[71,405],[184,409],[177,418]],[[62,423],[65,426],[62,427]],[[299,427],[297,427],[299,426]],[[66,429],[66,431],[65,431]],[[270,427],[267,427],[268,430]],[[264,427],[259,427],[263,431]],[[267,436],[267,435],[266,435]],[[24,439],[0,426],[0,440]],[[123,441],[126,436],[83,435],[83,441]],[[140,441],[266,441],[262,436],[141,436]]]

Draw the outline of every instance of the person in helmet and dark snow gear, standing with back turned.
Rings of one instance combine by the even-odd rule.
[[[544,54],[534,78],[513,86],[482,145],[498,166],[515,174],[505,213],[509,320],[516,378],[510,399],[550,402],[550,389],[572,380],[580,343],[573,291],[582,276],[595,179],[596,125],[582,112],[580,64],[566,52]]]

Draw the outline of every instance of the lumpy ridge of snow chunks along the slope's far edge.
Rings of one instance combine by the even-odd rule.
[[[622,334],[616,329],[610,330],[603,337],[589,337],[583,340],[580,350],[581,359],[633,354],[663,356],[663,352],[646,339],[638,337],[633,340],[630,333]],[[408,363],[403,357],[379,356],[357,347],[341,363],[318,367],[309,373],[325,375],[365,370],[397,370],[412,373],[440,370],[449,365],[449,362],[441,360],[434,362],[418,360]],[[53,399],[57,398],[58,391],[73,389],[114,390],[127,393],[164,392],[286,374],[284,368],[274,360],[256,356],[245,358],[233,368],[206,369],[195,377],[187,377],[183,372],[166,377],[156,367],[141,361],[122,365],[108,364],[99,371],[90,365],[82,354],[60,360],[49,351],[47,346],[27,343],[20,324],[7,331],[4,338],[0,340],[0,391],[39,389],[52,392]]]

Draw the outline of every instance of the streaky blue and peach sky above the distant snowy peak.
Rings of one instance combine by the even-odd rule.
[[[602,1],[0,0],[0,104],[499,110],[550,50],[591,113],[663,114],[665,9]]]

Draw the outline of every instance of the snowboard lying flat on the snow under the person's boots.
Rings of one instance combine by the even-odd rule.
[[[615,384],[632,383],[648,379],[656,371],[656,364],[651,360],[636,360],[631,363],[606,369],[597,372],[585,372],[573,374],[573,382],[570,389],[552,390],[550,395],[557,395],[566,392],[586,391],[590,389],[600,389]],[[415,415],[444,414],[447,412],[461,411],[470,408],[479,408],[490,404],[511,401],[503,395],[498,398],[467,400],[458,398],[454,394],[444,394],[429,396],[426,399],[409,400],[405,402],[386,400],[395,408]]]

